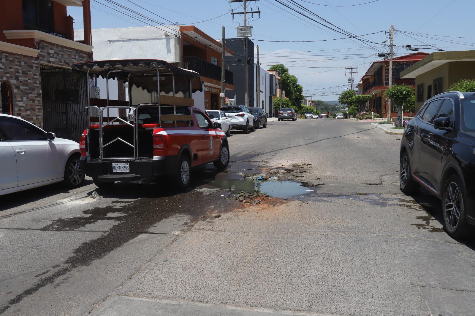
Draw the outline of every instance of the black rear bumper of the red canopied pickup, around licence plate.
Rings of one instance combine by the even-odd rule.
[[[161,156],[160,159],[137,160],[100,160],[86,161],[81,157],[80,166],[86,176],[93,177],[100,182],[132,181],[148,177],[169,175],[176,170],[178,156]],[[113,172],[113,163],[128,163],[128,172]]]

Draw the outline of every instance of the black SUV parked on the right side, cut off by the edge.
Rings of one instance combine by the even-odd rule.
[[[399,184],[423,186],[442,200],[446,231],[473,237],[475,225],[475,93],[440,93],[424,103],[404,130]]]

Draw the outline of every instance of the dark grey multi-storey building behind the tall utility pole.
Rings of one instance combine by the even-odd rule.
[[[247,58],[244,55],[244,41],[247,40]],[[226,90],[226,96],[229,99],[234,99],[236,95],[236,105],[244,105],[244,67],[248,69],[247,84],[249,86],[249,106],[254,106],[254,42],[249,38],[227,38],[226,47],[234,52],[234,56],[225,57],[225,68],[232,71],[234,74],[234,90]]]

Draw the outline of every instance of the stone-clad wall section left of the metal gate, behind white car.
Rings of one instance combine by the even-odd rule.
[[[43,110],[38,60],[0,52],[0,78],[10,81],[15,115],[42,127]]]

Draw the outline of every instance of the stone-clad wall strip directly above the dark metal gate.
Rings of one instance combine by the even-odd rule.
[[[39,60],[42,63],[70,67],[74,63],[89,61],[89,53],[53,43],[37,41],[40,50]]]

